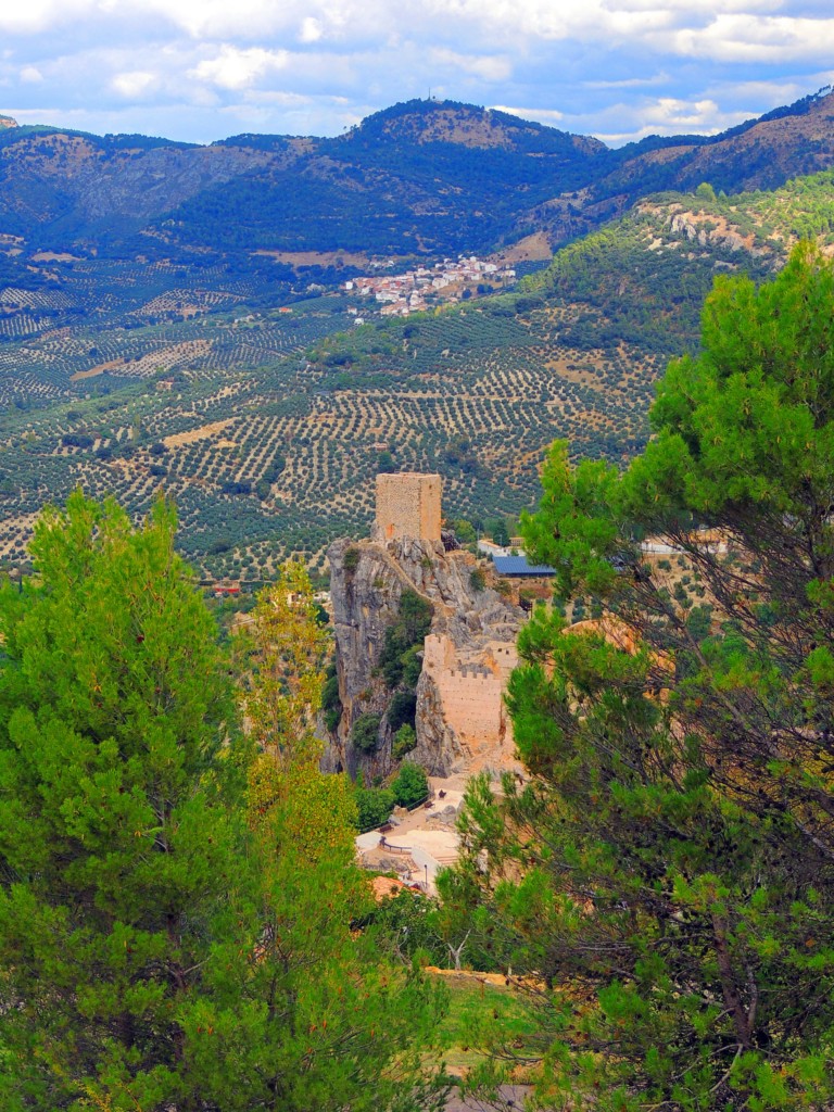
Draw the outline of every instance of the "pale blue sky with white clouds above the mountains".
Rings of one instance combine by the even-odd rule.
[[[832,0],[0,0],[0,113],[211,142],[415,97],[619,146],[834,80]]]

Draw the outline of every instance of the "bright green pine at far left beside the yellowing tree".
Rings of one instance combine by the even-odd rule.
[[[0,595],[4,1109],[201,1106],[185,1021],[239,838],[228,678],[175,527],[77,493]]]

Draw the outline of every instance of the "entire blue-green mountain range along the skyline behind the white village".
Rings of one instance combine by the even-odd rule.
[[[413,100],[332,139],[209,147],[51,128],[0,133],[0,226],[26,246],[110,257],[207,251],[445,255],[544,230],[558,245],[661,189],[781,185],[834,165],[821,90],[714,138],[620,150],[454,101]]]

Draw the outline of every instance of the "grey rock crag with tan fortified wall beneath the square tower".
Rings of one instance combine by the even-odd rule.
[[[391,693],[376,674],[385,631],[403,592],[431,603],[417,685],[417,746],[409,759],[434,775],[512,757],[513,738],[502,693],[515,665],[522,613],[473,579],[474,557],[439,542],[339,540],[328,553],[341,721],[325,756],[331,771],[387,775],[395,761],[383,717],[373,754],[356,751],[350,733],[366,713],[384,715]]]

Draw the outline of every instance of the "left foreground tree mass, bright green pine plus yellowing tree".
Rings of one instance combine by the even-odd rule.
[[[261,605],[247,736],[175,529],[76,493],[0,592],[0,1104],[434,1108],[443,999],[353,929],[373,900],[310,753],[304,590],[277,625]]]

